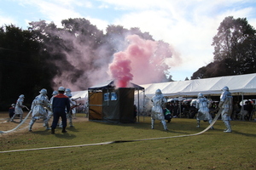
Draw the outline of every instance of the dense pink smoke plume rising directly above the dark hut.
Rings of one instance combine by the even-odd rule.
[[[113,54],[113,63],[108,67],[116,87],[127,88],[131,81],[137,84],[163,82],[166,71],[171,68],[166,62],[172,57],[172,48],[137,35],[128,36],[126,40],[128,47]]]

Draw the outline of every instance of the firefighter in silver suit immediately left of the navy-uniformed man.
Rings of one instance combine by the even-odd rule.
[[[47,110],[49,109],[49,99],[47,94],[47,90],[43,88],[40,92],[40,94],[32,101],[32,119],[29,122],[28,130],[32,131],[32,126],[34,122],[39,120],[40,118],[43,118],[44,126],[46,127],[46,130],[49,130],[49,123],[47,119]]]

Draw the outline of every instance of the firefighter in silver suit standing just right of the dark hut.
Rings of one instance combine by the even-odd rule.
[[[166,125],[166,120],[163,112],[163,107],[166,108],[166,103],[167,100],[163,96],[162,92],[160,89],[157,89],[155,91],[154,97],[151,99],[153,102],[153,107],[151,110],[151,128],[154,129],[154,121],[155,120],[160,120],[160,122],[163,124],[164,129],[167,131],[167,125]]]

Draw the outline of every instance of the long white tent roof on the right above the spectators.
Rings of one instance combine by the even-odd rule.
[[[205,79],[196,79],[179,82],[161,82],[152,85],[140,85],[145,88],[145,95],[151,98],[158,88],[164,96],[197,96],[198,93],[204,95],[220,95],[224,86],[230,88],[234,95],[256,95],[256,73],[230,76],[230,77],[213,77]]]

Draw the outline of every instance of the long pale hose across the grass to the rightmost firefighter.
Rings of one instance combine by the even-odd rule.
[[[46,147],[46,148],[32,148],[32,149],[25,149],[25,150],[5,150],[5,151],[0,151],[0,153],[9,153],[9,152],[17,152],[17,151],[29,151],[29,150],[52,150],[52,149],[60,149],[60,148],[73,148],[73,147],[83,147],[83,146],[94,146],[94,145],[115,144],[115,143],[125,143],[125,142],[137,142],[137,141],[144,141],[144,140],[172,139],[172,138],[195,136],[195,135],[199,135],[201,133],[207,132],[207,130],[209,128],[211,128],[213,126],[213,124],[218,120],[218,116],[219,115],[220,115],[220,111],[218,111],[218,114],[217,114],[217,116],[215,116],[215,118],[213,119],[212,123],[207,128],[205,128],[203,131],[201,131],[200,133],[184,134],[184,135],[178,135],[178,136],[169,136],[169,137],[152,138],[152,139],[115,140],[115,141],[102,142],[102,143],[96,143],[96,144],[79,144],[79,145],[68,145],[68,146],[54,146],[54,147]]]

